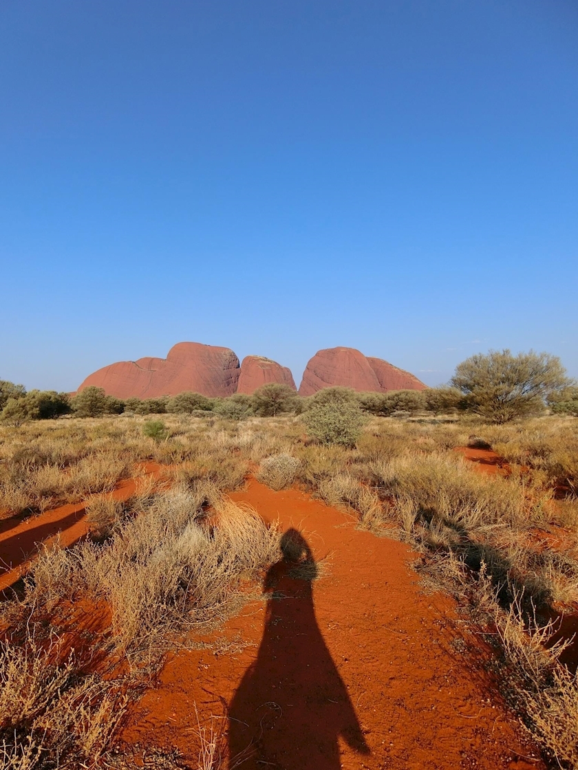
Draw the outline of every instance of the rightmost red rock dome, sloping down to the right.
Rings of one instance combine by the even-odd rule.
[[[353,390],[423,390],[426,386],[413,374],[405,372],[381,358],[367,358],[352,347],[319,350],[303,373],[299,393],[312,396],[324,387],[340,385]]]

